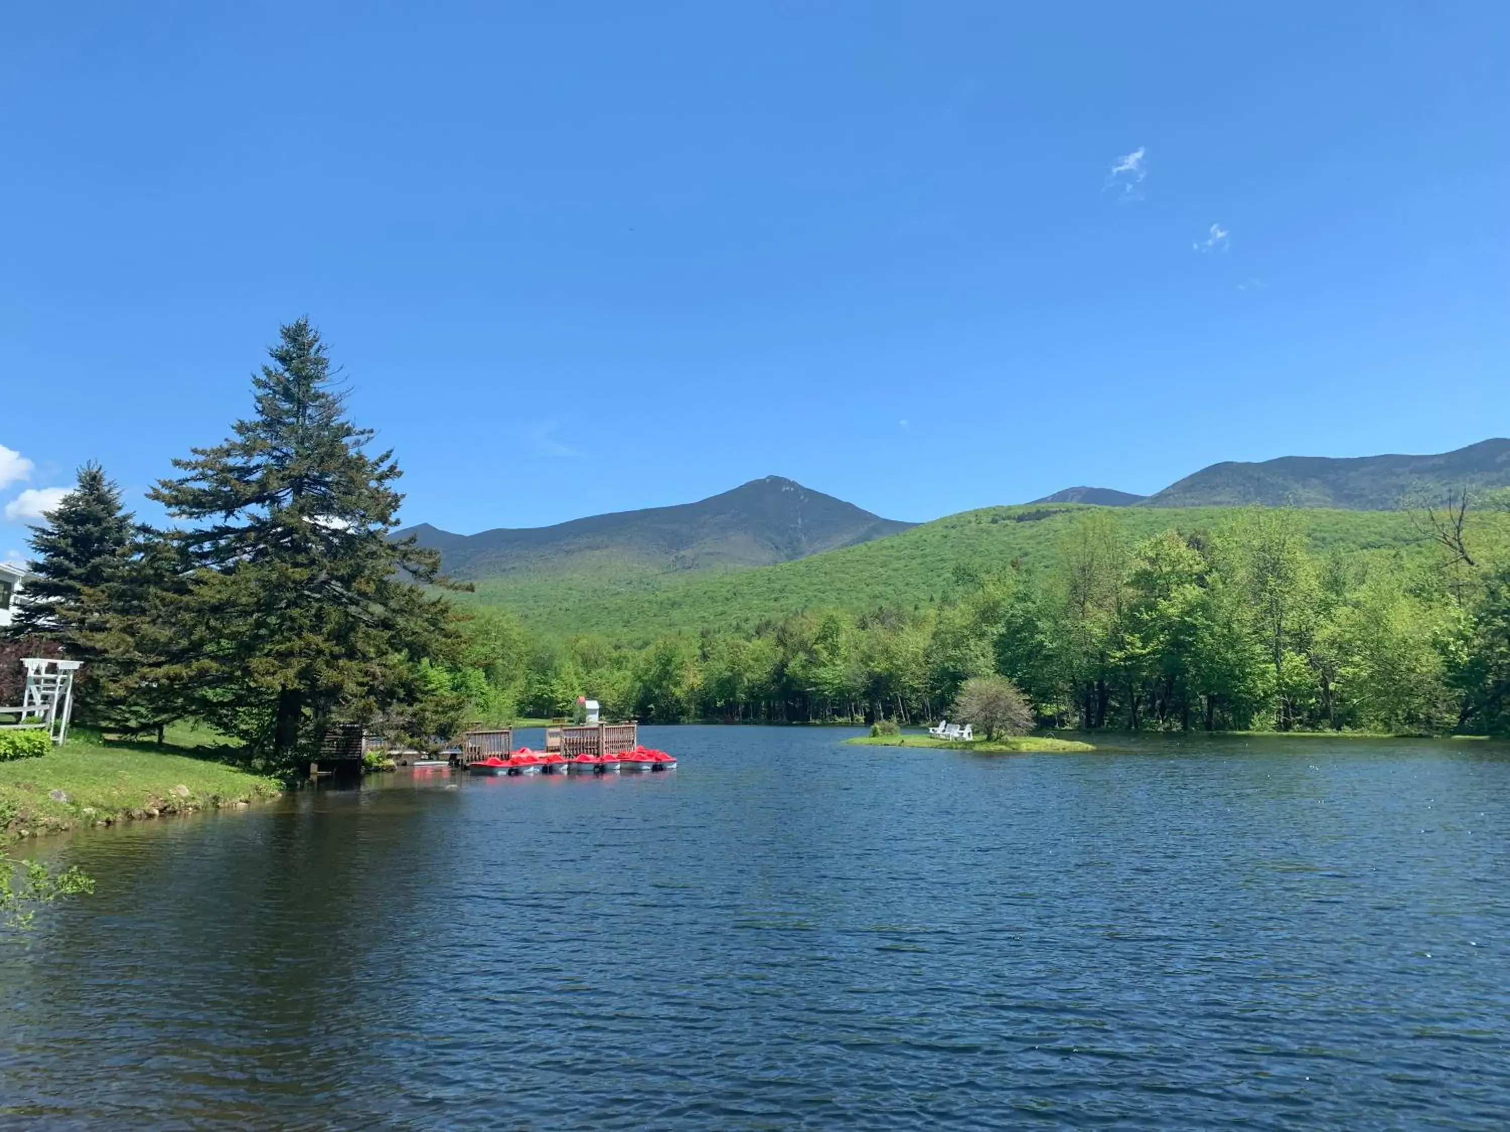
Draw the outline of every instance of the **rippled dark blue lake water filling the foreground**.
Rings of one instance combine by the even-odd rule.
[[[1502,749],[646,734],[59,842],[0,1123],[1510,1126]]]

